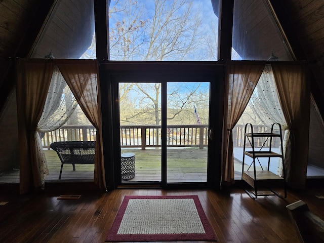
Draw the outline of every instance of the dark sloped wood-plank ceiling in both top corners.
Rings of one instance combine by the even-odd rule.
[[[77,6],[78,1],[64,2],[71,2]],[[282,27],[281,31],[286,35],[296,60],[311,61],[312,94],[323,116],[324,2],[322,0],[263,0],[263,2],[271,7],[270,10],[278,20],[279,27]],[[0,0],[0,107],[4,107],[8,94],[14,87],[14,58],[30,55],[34,42],[39,38],[44,27],[43,23],[49,21],[49,13],[56,4],[58,1],[55,0]],[[66,7],[68,8],[68,4]],[[75,9],[73,12],[75,13]],[[77,13],[67,19],[75,20],[77,16],[80,14]],[[58,35],[62,36],[62,34]],[[77,38],[66,39],[76,42]],[[64,41],[64,38],[62,40]],[[254,41],[258,40],[254,39]],[[268,38],[268,42],[271,41],[272,39]],[[71,44],[66,43],[66,47],[71,48]],[[64,51],[63,49],[62,53]],[[268,55],[268,53],[264,55],[266,54]],[[57,58],[64,58],[64,55],[57,55],[59,55],[56,56]]]

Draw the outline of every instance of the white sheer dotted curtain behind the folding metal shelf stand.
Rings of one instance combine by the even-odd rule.
[[[259,117],[264,125],[270,127],[273,123],[279,123],[282,130],[288,130],[286,119],[281,109],[271,65],[265,66],[250,102],[250,107],[254,114]],[[285,132],[282,143],[284,154],[286,152],[288,135],[289,132]],[[278,162],[277,173],[279,176],[282,176],[281,159]]]

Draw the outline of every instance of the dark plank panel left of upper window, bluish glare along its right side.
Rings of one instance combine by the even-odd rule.
[[[78,59],[92,43],[93,1],[58,1],[50,15],[31,57],[44,58],[52,51],[55,58]]]

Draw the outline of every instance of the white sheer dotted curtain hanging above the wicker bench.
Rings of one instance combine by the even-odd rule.
[[[76,99],[68,88],[60,70],[55,66],[43,113],[36,128],[38,132],[38,136],[36,136],[37,158],[39,160],[39,165],[41,165],[39,171],[41,172],[40,175],[43,188],[45,179],[49,175],[49,170],[46,156],[43,151],[42,136],[46,132],[51,132],[62,127],[74,112],[76,106]]]

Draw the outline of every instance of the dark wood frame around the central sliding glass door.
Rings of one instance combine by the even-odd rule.
[[[120,178],[116,171],[120,155],[119,146],[119,111],[118,111],[118,85],[115,77],[129,76],[155,76],[159,80],[173,77],[178,82],[186,82],[185,76],[208,77],[211,80],[211,105],[210,105],[210,129],[213,130],[213,139],[210,140],[207,183],[166,183],[166,168],[162,168],[163,183],[131,183],[123,184],[123,187],[162,187],[162,188],[220,188],[221,178],[221,134],[223,126],[223,100],[225,66],[219,62],[146,62],[146,61],[107,61],[100,64],[100,86],[102,102],[103,123],[103,149],[105,158],[105,175],[107,189],[120,187]],[[134,79],[135,80],[135,79]],[[167,79],[170,80],[170,79]],[[200,79],[201,80],[201,79]],[[134,81],[136,82],[136,81]],[[165,83],[165,82],[164,82]],[[166,84],[166,83],[165,83]],[[166,92],[166,85],[162,86],[162,92]],[[213,98],[212,98],[213,97]],[[162,105],[164,105],[162,102]],[[215,105],[218,103],[218,105]],[[212,108],[211,108],[212,107]],[[162,107],[163,108],[163,107]],[[166,107],[165,107],[166,108]],[[166,114],[161,114],[166,118]],[[166,123],[161,123],[161,128]],[[162,144],[166,141],[162,141]],[[162,158],[166,154],[162,153]]]

